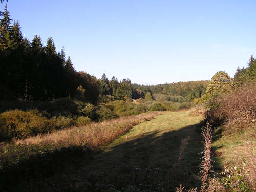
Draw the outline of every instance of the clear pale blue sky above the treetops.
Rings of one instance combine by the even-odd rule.
[[[6,0],[0,3],[4,10]],[[52,37],[76,71],[132,83],[231,77],[256,56],[256,1],[9,0],[30,41]]]

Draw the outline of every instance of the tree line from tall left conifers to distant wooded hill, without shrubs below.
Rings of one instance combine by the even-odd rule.
[[[0,19],[0,100],[53,101],[77,98],[96,104],[99,95],[117,100],[144,98],[147,92],[187,97],[201,97],[207,81],[179,82],[156,86],[132,84],[129,78],[97,79],[77,72],[64,47],[56,51],[52,37],[42,44],[39,35],[30,42],[23,37],[18,22],[12,22],[7,5]]]

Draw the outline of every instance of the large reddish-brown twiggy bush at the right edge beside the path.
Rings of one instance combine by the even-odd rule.
[[[205,119],[222,124],[227,134],[242,131],[256,119],[256,83],[238,87],[209,101]],[[234,130],[236,129],[236,130]]]

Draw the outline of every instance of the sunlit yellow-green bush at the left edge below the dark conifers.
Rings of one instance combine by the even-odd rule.
[[[47,119],[36,110],[10,110],[0,114],[0,141],[26,138],[53,130],[55,119]]]

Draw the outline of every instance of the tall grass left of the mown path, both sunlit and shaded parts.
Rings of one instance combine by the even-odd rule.
[[[13,140],[7,144],[0,143],[0,180],[3,181],[0,182],[0,191],[12,191],[9,187],[14,184],[15,188],[16,185],[22,184],[22,181],[52,176],[70,163],[90,162],[92,151],[118,138],[134,125],[151,120],[162,113],[126,116]]]

